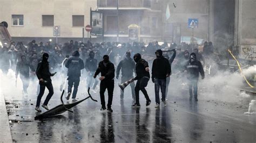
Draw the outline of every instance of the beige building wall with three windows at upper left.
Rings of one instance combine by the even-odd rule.
[[[53,27],[42,26],[42,15],[54,15],[54,25],[60,26],[60,38],[82,38],[83,27],[72,26],[72,15],[84,15],[84,26],[90,24],[90,8],[95,10],[97,0],[0,0],[0,3],[0,21],[9,24],[12,37],[53,37]],[[12,15],[23,15],[24,26],[12,26]]]

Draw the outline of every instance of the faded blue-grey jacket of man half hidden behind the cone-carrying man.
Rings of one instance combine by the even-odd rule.
[[[122,76],[132,77],[133,72],[135,71],[135,62],[131,58],[129,59],[124,58],[122,61],[120,61],[117,66],[117,76],[119,76],[121,68],[122,68]]]

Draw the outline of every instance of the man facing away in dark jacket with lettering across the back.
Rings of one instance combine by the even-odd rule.
[[[66,97],[69,100],[69,97],[72,92],[72,87],[74,85],[72,100],[76,101],[76,95],[78,91],[78,85],[80,82],[81,70],[84,69],[84,62],[79,58],[80,54],[78,51],[73,52],[72,56],[65,62],[65,67],[68,68],[68,96]]]

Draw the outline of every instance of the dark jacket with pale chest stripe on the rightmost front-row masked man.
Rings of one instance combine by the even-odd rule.
[[[191,53],[194,54],[194,53]],[[203,66],[200,61],[197,59],[194,62],[191,62],[189,60],[186,64],[186,70],[187,70],[187,78],[188,79],[198,79],[199,73],[201,74],[202,77],[205,77],[205,72],[203,69]]]

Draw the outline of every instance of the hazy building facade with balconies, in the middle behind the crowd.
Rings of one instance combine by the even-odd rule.
[[[97,10],[104,13],[104,38],[128,41],[129,25],[139,26],[139,41],[161,40],[163,1],[98,0]]]

